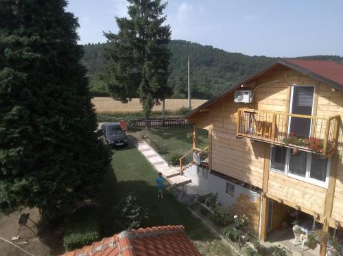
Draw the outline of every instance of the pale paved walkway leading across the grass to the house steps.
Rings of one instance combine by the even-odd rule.
[[[145,141],[139,141],[138,150],[141,152],[147,161],[154,165],[156,172],[161,172],[162,176],[173,187],[191,183],[191,179],[180,175],[180,167],[170,167],[168,163],[156,153]]]

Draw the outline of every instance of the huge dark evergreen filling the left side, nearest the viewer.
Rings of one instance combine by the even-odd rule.
[[[0,209],[67,213],[91,198],[109,154],[65,0],[0,1]]]

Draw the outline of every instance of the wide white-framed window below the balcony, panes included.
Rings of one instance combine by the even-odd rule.
[[[320,158],[319,154],[304,151],[293,154],[292,148],[273,146],[270,153],[270,170],[327,187],[330,160]]]

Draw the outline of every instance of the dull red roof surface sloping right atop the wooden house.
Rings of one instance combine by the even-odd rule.
[[[285,58],[284,60],[343,86],[343,65],[332,60],[300,60],[298,58]]]

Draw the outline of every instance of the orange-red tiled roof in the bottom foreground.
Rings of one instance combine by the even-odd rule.
[[[153,226],[123,231],[61,256],[198,256],[184,226]]]

